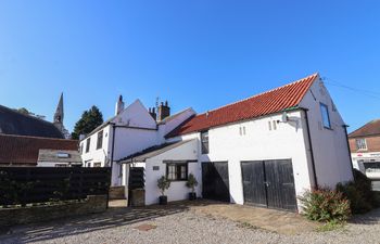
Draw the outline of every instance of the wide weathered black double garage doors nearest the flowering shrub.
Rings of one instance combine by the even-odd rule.
[[[242,162],[244,203],[296,210],[291,159]]]

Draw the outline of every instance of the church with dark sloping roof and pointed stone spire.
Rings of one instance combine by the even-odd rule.
[[[53,123],[0,105],[1,133],[41,138],[67,137],[68,132],[63,126],[63,94],[61,94]]]

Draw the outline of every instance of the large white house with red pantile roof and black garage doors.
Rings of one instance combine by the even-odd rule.
[[[174,118],[165,127],[137,101],[81,141],[85,147],[91,141],[84,159],[110,162],[113,140],[107,134],[119,129],[111,162],[124,167],[114,165],[114,174],[123,171],[124,180],[113,177],[113,183],[128,188],[129,175],[142,168],[147,205],[157,203],[156,181],[162,176],[172,180],[168,201],[187,198],[186,181],[193,174],[199,197],[288,210],[300,210],[296,196],[305,190],[353,179],[345,124],[318,74],[203,114],[187,110]],[[101,130],[107,145],[94,159]]]

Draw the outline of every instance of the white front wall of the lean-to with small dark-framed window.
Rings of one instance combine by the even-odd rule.
[[[145,162],[145,204],[157,204],[161,195],[157,188],[157,180],[166,176],[166,164],[163,160],[197,160],[198,159],[198,141],[189,141],[173,150],[169,150],[155,157],[148,158]],[[140,165],[141,166],[141,165]],[[160,170],[153,170],[153,166],[159,166]],[[198,163],[188,164],[188,172],[193,174],[198,182],[202,181],[201,169]],[[168,201],[187,200],[190,190],[186,187],[186,181],[173,181],[170,188],[165,192]],[[198,195],[201,195],[200,185],[197,188]]]

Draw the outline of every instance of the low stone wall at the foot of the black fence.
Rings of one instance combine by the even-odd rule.
[[[0,227],[42,222],[106,210],[106,195],[89,195],[84,202],[0,209]]]

